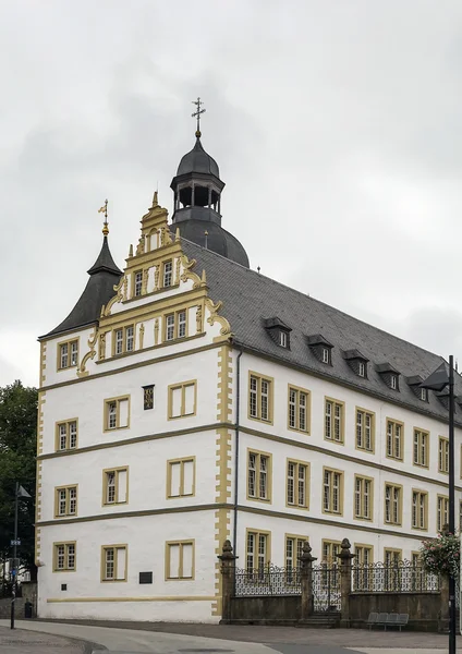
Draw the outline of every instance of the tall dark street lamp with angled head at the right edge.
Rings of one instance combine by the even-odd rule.
[[[449,533],[455,533],[454,513],[454,358],[449,358],[449,375],[446,363],[421,384],[421,388],[449,390]],[[449,654],[455,654],[455,579],[449,574]]]

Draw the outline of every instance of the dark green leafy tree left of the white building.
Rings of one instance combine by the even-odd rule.
[[[20,500],[17,556],[35,580],[35,479],[37,443],[36,388],[21,382],[0,387],[0,557],[12,556],[10,541],[14,534],[14,493],[19,482],[32,496]]]

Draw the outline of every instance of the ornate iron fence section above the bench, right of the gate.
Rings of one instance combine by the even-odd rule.
[[[353,591],[372,593],[422,593],[439,591],[439,578],[409,560],[391,565],[355,565],[352,568],[352,588]]]

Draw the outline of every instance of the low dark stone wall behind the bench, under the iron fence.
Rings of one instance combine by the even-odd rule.
[[[439,592],[350,594],[350,626],[356,628],[365,626],[370,613],[402,613],[409,615],[406,629],[438,631],[440,610]]]

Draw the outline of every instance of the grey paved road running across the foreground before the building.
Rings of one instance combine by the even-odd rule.
[[[8,622],[0,621],[1,625]],[[132,625],[130,629],[121,629],[125,623],[117,625],[115,629],[107,622],[96,626],[17,621],[21,629],[98,643],[109,651],[105,654],[435,654],[438,651],[442,654],[448,651],[448,639],[431,633],[185,623],[145,623],[143,629]],[[35,650],[34,654],[48,652]]]

